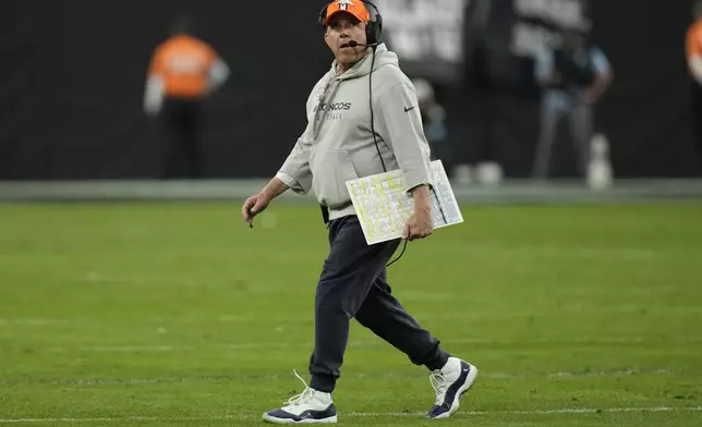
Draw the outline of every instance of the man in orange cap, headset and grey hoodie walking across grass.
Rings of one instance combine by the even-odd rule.
[[[331,393],[355,319],[431,370],[436,392],[429,418],[458,410],[477,369],[452,357],[390,293],[386,265],[399,240],[367,245],[346,182],[386,170],[403,172],[414,211],[404,237],[432,234],[429,147],[417,98],[394,52],[382,42],[382,16],[366,0],[334,0],[319,21],[335,56],[331,70],[307,99],[307,126],[280,171],[242,207],[249,223],[278,195],[291,188],[314,191],[329,228],[330,251],[315,298],[312,382],[288,403],[264,414],[271,423],[336,423]],[[303,380],[304,382],[304,380]]]

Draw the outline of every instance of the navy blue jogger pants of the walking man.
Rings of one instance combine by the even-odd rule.
[[[399,240],[368,245],[355,216],[329,223],[329,256],[317,283],[311,387],[331,392],[340,376],[351,318],[372,330],[415,365],[439,369],[449,357],[439,341],[391,294],[386,265]]]

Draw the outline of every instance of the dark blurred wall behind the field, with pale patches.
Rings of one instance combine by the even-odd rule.
[[[329,69],[324,1],[4,0],[0,13],[0,180],[160,179],[168,141],[144,113],[146,72],[178,14],[230,68],[203,102],[202,178],[275,174],[305,126],[304,103]],[[565,21],[591,24],[614,81],[595,132],[621,178],[700,176],[685,37],[692,1],[377,0],[385,38],[446,112],[443,160],[492,162],[526,178],[538,138],[534,54]],[[460,13],[453,11],[459,10]],[[564,133],[559,138],[565,138]],[[572,145],[554,176],[578,176]]]

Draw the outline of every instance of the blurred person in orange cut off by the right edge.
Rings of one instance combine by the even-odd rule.
[[[688,71],[692,76],[691,120],[698,155],[702,159],[702,1],[693,5],[694,23],[690,25],[686,39]]]

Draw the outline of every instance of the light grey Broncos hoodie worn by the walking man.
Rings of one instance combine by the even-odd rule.
[[[341,75],[334,61],[310,94],[307,127],[276,175],[296,193],[312,190],[330,220],[355,215],[347,181],[384,172],[371,132],[372,59],[370,52]],[[432,184],[414,86],[385,45],[376,49],[373,70],[373,119],[386,169],[401,170],[408,191]]]

